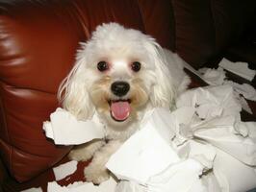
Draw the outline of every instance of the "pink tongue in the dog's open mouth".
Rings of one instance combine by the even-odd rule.
[[[115,120],[123,121],[128,118],[131,108],[129,102],[113,102],[111,104],[112,116]]]

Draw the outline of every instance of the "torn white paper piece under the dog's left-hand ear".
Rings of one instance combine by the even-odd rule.
[[[63,108],[57,108],[50,119],[43,123],[43,130],[57,145],[77,145],[105,136],[104,127],[96,118],[79,121]]]

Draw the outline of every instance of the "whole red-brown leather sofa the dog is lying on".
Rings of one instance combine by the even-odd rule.
[[[42,122],[59,106],[56,92],[78,43],[98,24],[141,30],[194,68],[215,67],[223,57],[255,68],[255,10],[255,0],[1,0],[0,191],[45,190],[54,180],[51,168],[71,146],[45,138]],[[192,76],[192,87],[201,84]]]

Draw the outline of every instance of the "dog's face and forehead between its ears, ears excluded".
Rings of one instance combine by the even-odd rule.
[[[140,38],[137,31],[99,29],[87,44],[90,99],[108,123],[122,128],[139,118],[156,79]]]

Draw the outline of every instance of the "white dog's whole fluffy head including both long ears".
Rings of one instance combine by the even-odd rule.
[[[169,79],[154,43],[150,36],[115,23],[98,27],[82,45],[63,86],[65,108],[81,118],[95,108],[121,129],[138,120],[147,106],[168,103]]]

